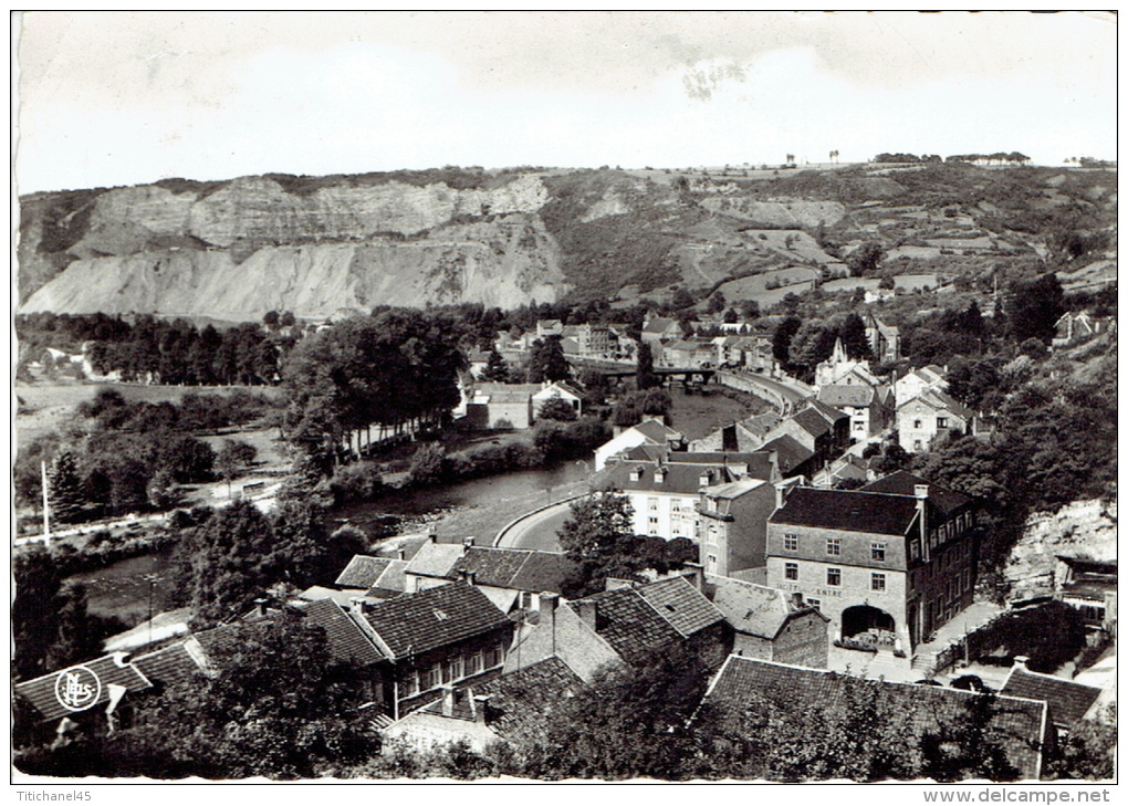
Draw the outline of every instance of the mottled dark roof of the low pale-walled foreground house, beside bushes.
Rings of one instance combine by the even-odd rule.
[[[474,687],[487,694],[486,724],[509,739],[546,739],[556,709],[583,688],[583,681],[553,655]]]

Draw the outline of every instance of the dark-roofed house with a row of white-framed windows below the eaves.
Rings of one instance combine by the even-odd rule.
[[[500,674],[513,622],[478,588],[448,582],[378,604],[360,603],[364,631],[382,655],[381,702],[393,719]]]

